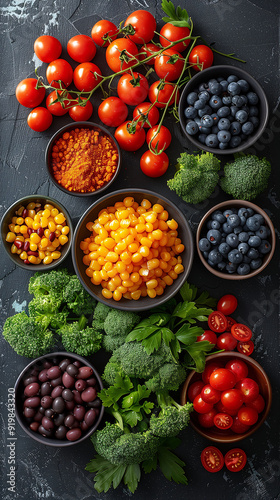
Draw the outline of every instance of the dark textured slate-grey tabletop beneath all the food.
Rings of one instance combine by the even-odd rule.
[[[277,0],[186,0],[181,1],[195,24],[195,33],[201,34],[223,52],[235,51],[247,61],[245,67],[263,86],[268,96],[270,117],[263,136],[250,152],[267,156],[272,163],[269,189],[256,200],[270,215],[276,226],[279,246],[279,2]],[[41,65],[33,56],[34,40],[42,34],[51,34],[63,44],[62,57],[67,58],[66,43],[78,34],[90,34],[93,24],[100,18],[109,18],[116,24],[135,9],[149,9],[160,22],[160,1],[153,0],[2,0],[0,2],[1,27],[1,214],[21,196],[38,193],[49,195],[64,204],[77,223],[94,197],[81,199],[62,193],[48,179],[44,152],[51,135],[70,118],[56,118],[49,130],[35,133],[26,124],[28,109],[19,106],[14,92],[20,80],[34,76],[35,66]],[[102,53],[102,50],[99,51]],[[103,64],[103,53],[94,62]],[[231,61],[215,55],[215,64]],[[235,63],[241,66],[240,63]],[[44,74],[45,64],[39,68]],[[100,97],[100,96],[99,96]],[[93,120],[98,122],[97,106],[100,99],[92,99]],[[174,173],[179,152],[191,151],[179,126],[172,118],[166,120],[172,130],[172,145],[168,150],[170,167],[159,179],[145,177],[139,168],[140,150],[123,153],[121,173],[111,190],[124,186],[138,186],[158,191],[175,201],[184,212],[195,233],[202,215],[211,206],[227,199],[219,188],[205,203],[197,206],[181,202],[169,191],[166,180]],[[214,296],[234,293],[239,306],[236,319],[249,325],[254,332],[254,358],[259,361],[270,377],[273,403],[265,424],[240,446],[248,455],[248,464],[239,474],[223,469],[218,474],[207,473],[200,464],[201,450],[209,443],[188,428],[182,433],[179,456],[186,462],[188,486],[169,483],[162,474],[154,472],[143,476],[134,494],[135,500],[145,498],[180,499],[186,497],[227,498],[232,500],[279,498],[279,267],[278,251],[265,271],[259,276],[242,282],[219,280],[202,266],[198,257],[189,276],[189,282],[208,289]],[[71,269],[71,260],[67,265]],[[1,248],[1,299],[2,323],[7,316],[26,309],[30,296],[27,292],[29,271],[15,267]],[[121,499],[132,496],[123,486],[116,491],[98,494],[93,489],[92,475],[85,472],[85,465],[93,457],[90,441],[61,450],[37,444],[28,438],[17,425],[15,441],[16,487],[9,491],[9,458],[13,441],[8,440],[8,388],[12,388],[17,375],[28,360],[14,353],[1,340],[1,420],[3,451],[4,500],[86,500]],[[102,370],[102,359],[92,357]],[[220,447],[223,452],[229,445]]]

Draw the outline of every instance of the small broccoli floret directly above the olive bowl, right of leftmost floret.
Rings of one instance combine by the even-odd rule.
[[[87,319],[81,316],[79,321],[60,328],[61,341],[67,351],[80,356],[89,356],[101,348],[102,335],[93,327],[87,326]]]

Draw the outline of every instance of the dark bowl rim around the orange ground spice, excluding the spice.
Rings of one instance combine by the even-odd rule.
[[[97,189],[96,191],[91,191],[91,192],[86,192],[86,193],[82,193],[80,191],[69,191],[68,189],[64,188],[63,186],[61,186],[61,184],[59,184],[59,182],[57,182],[57,180],[54,178],[54,175],[53,175],[53,170],[52,170],[52,148],[54,146],[54,143],[55,141],[57,141],[60,137],[62,137],[62,135],[65,133],[65,132],[70,132],[71,130],[73,129],[81,129],[81,128],[85,128],[85,129],[93,129],[93,130],[101,130],[101,132],[105,135],[107,135],[111,141],[114,143],[114,146],[116,147],[117,151],[118,151],[118,163],[117,163],[117,168],[116,168],[116,171],[114,173],[114,175],[112,176],[111,180],[109,182],[107,182],[106,184],[104,184],[101,188]],[[45,153],[45,161],[46,161],[46,167],[47,167],[47,172],[48,172],[48,175],[50,177],[50,179],[52,180],[52,182],[56,185],[56,187],[58,187],[59,189],[61,189],[61,191],[63,191],[64,193],[67,193],[67,194],[71,194],[73,196],[95,196],[95,195],[99,195],[100,193],[102,193],[103,191],[105,191],[105,189],[107,189],[109,186],[111,186],[111,184],[114,182],[114,180],[116,179],[118,173],[119,173],[119,170],[120,170],[120,165],[121,165],[121,150],[120,150],[120,147],[118,145],[118,142],[115,140],[115,138],[113,137],[113,135],[105,128],[103,127],[102,125],[99,125],[97,123],[93,123],[93,122],[75,122],[75,123],[70,123],[69,125],[65,125],[64,127],[62,127],[61,129],[59,129],[53,136],[52,138],[50,139],[48,145],[47,145],[47,149],[46,149],[46,153]]]

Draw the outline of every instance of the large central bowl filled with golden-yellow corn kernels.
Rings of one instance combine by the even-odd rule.
[[[144,311],[173,297],[186,280],[194,244],[183,213],[160,194],[114,191],[76,227],[72,259],[84,288],[116,309]]]

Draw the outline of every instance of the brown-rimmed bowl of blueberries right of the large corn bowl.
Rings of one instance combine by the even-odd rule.
[[[215,276],[242,280],[264,270],[275,250],[275,230],[264,210],[244,200],[224,201],[201,219],[196,245]]]

